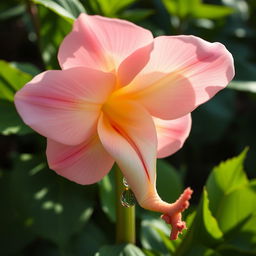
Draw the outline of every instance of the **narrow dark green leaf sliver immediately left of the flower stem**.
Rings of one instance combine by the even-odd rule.
[[[114,222],[116,220],[114,169],[99,183],[99,193],[102,210]]]

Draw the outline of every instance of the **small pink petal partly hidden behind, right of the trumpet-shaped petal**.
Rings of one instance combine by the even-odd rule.
[[[163,158],[178,151],[191,129],[191,115],[174,120],[153,118],[157,132],[157,157]]]

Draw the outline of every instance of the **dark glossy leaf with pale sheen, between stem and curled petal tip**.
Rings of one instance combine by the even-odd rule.
[[[142,220],[140,241],[144,249],[170,255],[175,246],[169,236],[170,228],[161,219],[147,217]]]

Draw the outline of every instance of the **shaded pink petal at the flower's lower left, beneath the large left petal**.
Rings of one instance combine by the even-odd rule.
[[[85,185],[101,180],[114,164],[97,136],[77,146],[47,140],[49,167],[59,175]]]

